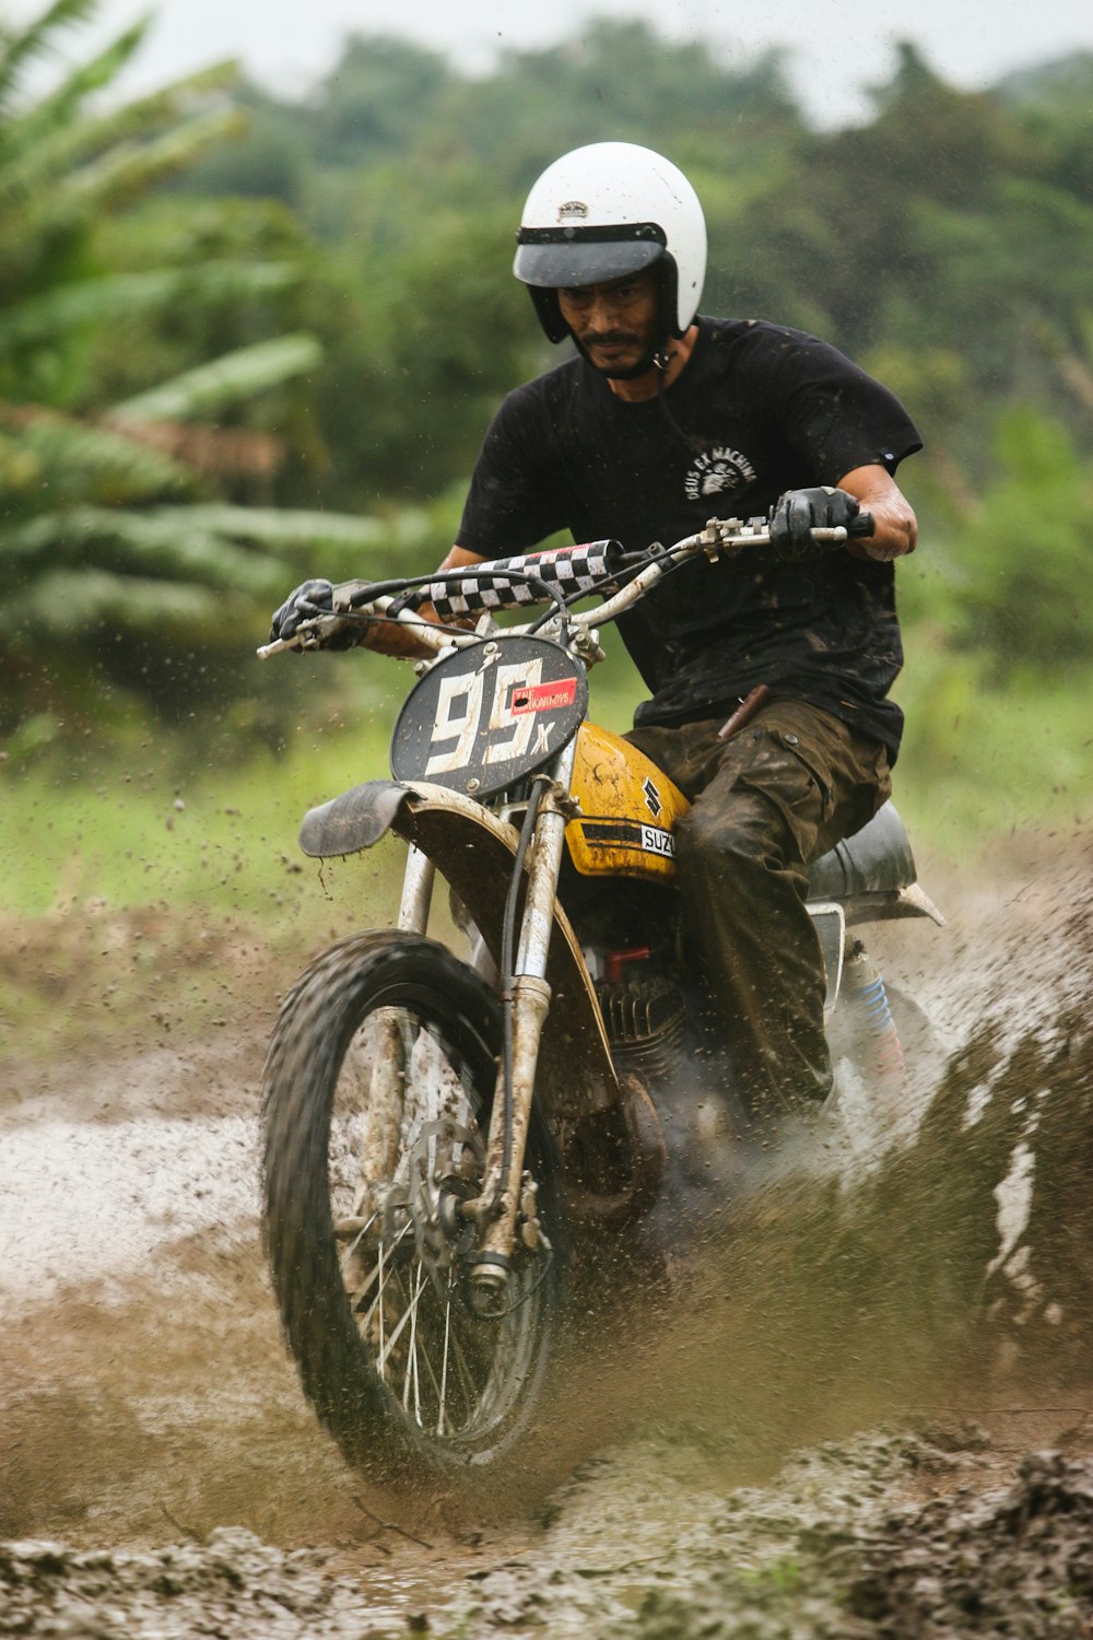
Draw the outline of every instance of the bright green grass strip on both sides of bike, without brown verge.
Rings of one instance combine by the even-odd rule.
[[[264,922],[323,900],[297,845],[313,804],[387,772],[390,725],[408,682],[369,708],[328,713],[282,754],[179,745],[102,751],[0,776],[0,913],[34,918],[93,907],[200,910]],[[593,672],[593,717],[624,728],[637,687],[619,666]],[[923,646],[898,690],[908,712],[896,800],[950,854],[977,854],[1014,828],[1080,828],[1091,818],[1093,725],[1073,686],[993,694],[970,663]],[[300,871],[303,868],[303,871]],[[339,881],[336,869],[324,872]],[[356,872],[388,891],[390,863]],[[305,897],[306,897],[305,894]]]

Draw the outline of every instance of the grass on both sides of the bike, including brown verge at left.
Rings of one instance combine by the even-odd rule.
[[[946,859],[977,869],[1014,831],[1041,846],[1088,828],[1085,694],[991,692],[972,658],[921,635],[918,651],[900,689],[909,727],[895,795],[924,881]],[[357,705],[316,705],[279,754],[146,738],[82,758],[54,745],[38,764],[0,766],[0,1036],[13,1061],[269,1014],[333,938],[393,922],[397,840],[321,868],[297,843],[306,809],[387,772],[410,674],[365,664]],[[593,672],[598,722],[626,728],[636,699],[618,661]]]

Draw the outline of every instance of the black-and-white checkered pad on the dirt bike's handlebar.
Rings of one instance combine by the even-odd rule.
[[[546,604],[542,585],[557,585],[562,597],[598,592],[623,561],[621,541],[590,541],[585,546],[556,546],[546,553],[521,553],[518,558],[492,558],[469,564],[462,572],[449,571],[444,581],[431,581],[398,599],[400,607],[431,604],[436,613],[474,615],[478,610],[513,608],[519,604]],[[534,577],[528,581],[524,577]]]

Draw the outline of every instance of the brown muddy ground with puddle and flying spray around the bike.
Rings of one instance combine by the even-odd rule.
[[[349,1473],[285,1360],[256,1115],[292,966],[175,941],[111,1033],[125,920],[5,930],[57,1050],[10,1032],[0,1081],[0,1633],[1090,1640],[1091,858],[924,872],[947,930],[870,936],[929,1017],[909,1091],[849,1084],[654,1307],[587,1317],[503,1496]]]

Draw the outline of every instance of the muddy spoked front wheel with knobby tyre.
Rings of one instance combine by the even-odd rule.
[[[500,1004],[418,935],[342,940],[288,995],[264,1079],[265,1241],[303,1389],[369,1471],[500,1460],[528,1427],[560,1302],[562,1205],[533,1114],[537,1187],[503,1314],[475,1312],[474,1227]],[[528,1243],[528,1245],[524,1245]]]

